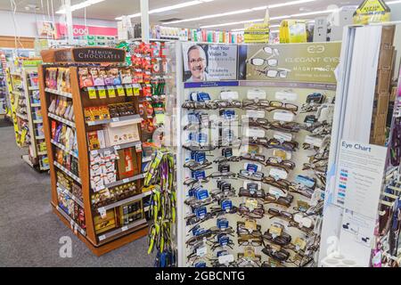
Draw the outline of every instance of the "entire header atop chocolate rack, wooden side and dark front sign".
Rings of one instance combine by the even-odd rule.
[[[110,47],[74,47],[45,50],[41,53],[44,62],[48,63],[124,63],[126,51]]]

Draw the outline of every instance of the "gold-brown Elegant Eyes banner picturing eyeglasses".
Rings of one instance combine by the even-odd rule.
[[[336,85],[341,43],[240,45],[239,79]]]

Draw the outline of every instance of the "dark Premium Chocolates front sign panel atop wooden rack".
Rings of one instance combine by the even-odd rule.
[[[72,50],[76,62],[124,62],[126,52],[116,48],[85,47]]]

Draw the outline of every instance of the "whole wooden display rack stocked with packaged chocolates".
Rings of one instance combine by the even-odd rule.
[[[42,57],[53,62],[39,70],[53,209],[101,256],[148,233],[143,199],[151,191],[143,192],[143,118],[132,69],[113,48]]]

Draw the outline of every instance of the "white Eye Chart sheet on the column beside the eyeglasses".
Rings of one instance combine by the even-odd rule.
[[[376,218],[387,149],[372,144],[341,141],[334,203]]]

